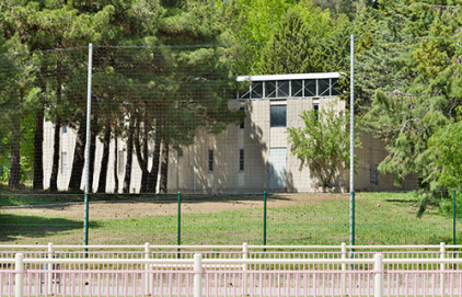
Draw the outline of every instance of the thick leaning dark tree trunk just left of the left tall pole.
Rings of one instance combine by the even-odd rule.
[[[69,180],[69,191],[80,190],[83,167],[85,164],[86,126],[80,125],[77,132],[76,148],[73,150],[72,171]]]

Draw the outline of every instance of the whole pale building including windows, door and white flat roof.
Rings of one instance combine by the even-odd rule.
[[[229,101],[229,107],[244,110],[246,117],[239,125],[229,125],[219,135],[210,135],[206,128],[196,133],[192,146],[171,149],[169,157],[169,192],[176,193],[262,193],[267,192],[320,192],[316,176],[291,153],[287,127],[303,125],[303,111],[322,110],[335,102],[334,108],[342,114],[345,102],[338,100],[338,72],[279,76],[239,77],[249,85]],[[53,125],[46,123],[51,133]],[[68,139],[70,141],[67,141]],[[74,134],[63,133],[59,189],[66,190],[72,160]],[[53,139],[53,137],[49,137]],[[124,176],[125,142],[118,140],[118,164],[114,169],[114,153],[109,157],[107,192],[114,189],[112,172],[116,170],[119,189]],[[409,175],[405,189],[393,185],[392,174],[381,174],[378,164],[386,157],[384,144],[370,135],[361,136],[362,148],[357,148],[359,164],[355,175],[355,191],[416,190],[417,174]],[[66,145],[67,144],[67,145]],[[53,144],[46,144],[53,148]],[[46,152],[45,152],[46,153]],[[96,160],[102,144],[96,144]],[[48,153],[51,156],[51,153]],[[49,180],[50,159],[46,158],[45,181]],[[49,162],[48,162],[49,161]],[[95,181],[100,164],[95,163]],[[334,186],[328,191],[348,192],[349,170],[338,172]],[[130,192],[139,192],[141,172],[134,157]],[[46,187],[47,185],[45,185]],[[83,187],[83,185],[82,185]]]

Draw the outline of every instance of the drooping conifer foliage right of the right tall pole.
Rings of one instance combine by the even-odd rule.
[[[374,13],[380,38],[358,54],[358,80],[362,126],[389,152],[379,170],[395,174],[396,185],[417,172],[421,185],[442,189],[439,157],[428,140],[460,104],[453,38],[460,19],[423,1],[386,2]]]

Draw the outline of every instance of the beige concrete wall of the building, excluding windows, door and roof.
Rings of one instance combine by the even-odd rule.
[[[270,106],[287,105],[287,126],[302,127],[300,118],[302,111],[310,111],[313,104],[320,108],[330,107],[336,101],[335,96],[322,98],[289,98],[287,100],[231,100],[229,106],[233,110],[244,108],[246,117],[244,127],[229,125],[219,135],[210,135],[206,128],[196,133],[194,145],[183,147],[181,150],[170,149],[169,155],[169,192],[176,193],[262,193],[272,186],[270,152],[274,149],[286,149],[286,186],[275,192],[320,192],[316,176],[308,167],[291,153],[290,144],[287,140],[286,127],[270,127]],[[345,102],[336,102],[334,108],[342,113],[345,111]],[[49,187],[53,162],[53,134],[51,123],[45,123],[44,141],[44,169],[45,189]],[[58,175],[58,187],[67,190],[72,170],[73,150],[77,132],[68,128],[67,133],[61,129],[61,160]],[[111,142],[109,163],[107,171],[107,192],[115,187],[114,169],[117,170],[119,192],[122,192],[125,174],[126,144],[118,139],[119,163],[115,164],[114,141]],[[362,148],[356,148],[359,163],[355,175],[355,191],[394,191],[416,190],[418,185],[417,174],[408,176],[405,187],[393,185],[392,174],[382,174],[378,171],[379,163],[386,157],[384,144],[374,139],[371,135],[361,135]],[[153,144],[150,150],[153,149]],[[240,170],[240,150],[244,151],[244,169]],[[209,157],[212,151],[212,170],[209,170]],[[92,189],[96,191],[100,176],[103,145],[96,144],[96,162]],[[62,156],[66,156],[65,164]],[[149,167],[152,158],[149,159]],[[134,155],[131,164],[130,192],[138,193],[141,183],[141,171],[138,160]],[[338,172],[335,180],[335,192],[349,191],[349,169]],[[82,178],[82,189],[84,176]]]

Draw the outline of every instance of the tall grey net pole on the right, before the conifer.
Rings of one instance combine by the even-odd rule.
[[[350,37],[350,81],[349,81],[349,244],[355,245],[355,35]]]

